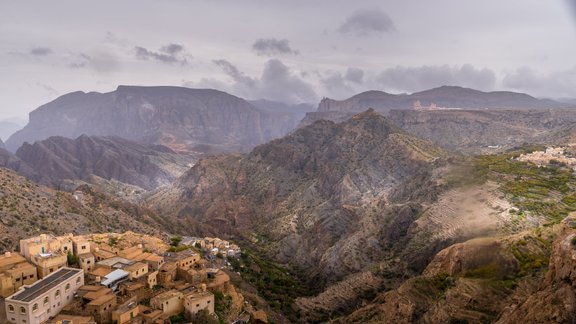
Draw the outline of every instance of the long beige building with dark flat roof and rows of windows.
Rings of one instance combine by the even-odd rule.
[[[82,285],[82,269],[62,268],[32,285],[24,286],[5,300],[8,322],[43,323],[70,303]]]

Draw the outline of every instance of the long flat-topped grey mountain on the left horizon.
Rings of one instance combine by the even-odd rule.
[[[119,136],[176,152],[245,151],[282,136],[286,116],[258,110],[225,92],[182,87],[119,86],[108,93],[73,92],[30,113],[6,146],[50,136]]]

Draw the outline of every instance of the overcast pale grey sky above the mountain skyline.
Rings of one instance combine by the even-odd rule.
[[[313,104],[441,85],[576,98],[576,5],[0,0],[0,120],[118,85]]]

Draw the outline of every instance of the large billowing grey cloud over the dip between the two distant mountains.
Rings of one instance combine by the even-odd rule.
[[[314,87],[278,59],[268,60],[260,77],[245,75],[227,60],[214,60],[213,63],[220,67],[232,81],[229,86],[224,85],[224,89],[241,97],[269,99],[286,103],[315,102],[318,100]],[[221,82],[211,79],[202,79],[199,84],[223,86]]]

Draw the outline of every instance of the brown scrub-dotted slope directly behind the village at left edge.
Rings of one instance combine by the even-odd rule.
[[[166,237],[154,213],[80,187],[77,195],[57,191],[0,168],[0,252],[40,233],[94,233],[133,230]]]

